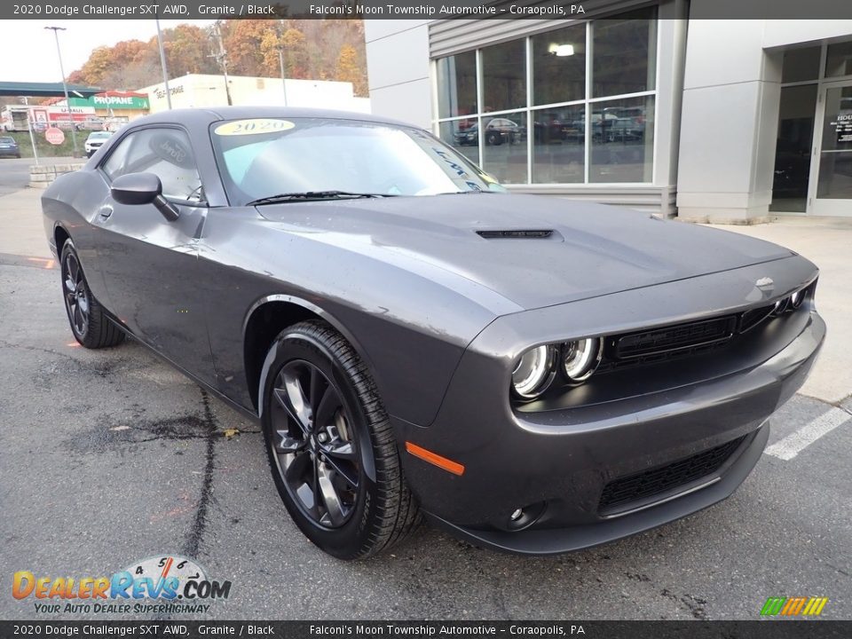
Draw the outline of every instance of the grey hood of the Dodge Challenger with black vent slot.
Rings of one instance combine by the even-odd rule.
[[[290,201],[257,210],[287,233],[418,272],[438,268],[527,310],[794,255],[738,233],[541,195]],[[550,233],[479,234],[524,231]]]

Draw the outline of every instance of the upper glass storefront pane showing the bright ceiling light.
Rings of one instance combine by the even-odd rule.
[[[586,97],[586,25],[533,36],[533,105]]]

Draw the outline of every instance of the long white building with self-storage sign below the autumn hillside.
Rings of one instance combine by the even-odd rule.
[[[368,98],[356,98],[352,83],[322,80],[287,80],[284,91],[280,78],[228,75],[228,91],[234,105],[279,105],[331,108],[370,112]],[[151,113],[169,108],[164,83],[139,89],[147,93]],[[187,74],[169,81],[172,108],[223,106],[228,104],[224,75]]]

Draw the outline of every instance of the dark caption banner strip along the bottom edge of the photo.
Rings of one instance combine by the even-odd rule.
[[[852,621],[0,621],[12,637],[848,639]]]

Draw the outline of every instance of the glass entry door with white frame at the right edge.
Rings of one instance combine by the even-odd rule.
[[[852,82],[824,84],[819,105],[809,214],[852,217]]]

